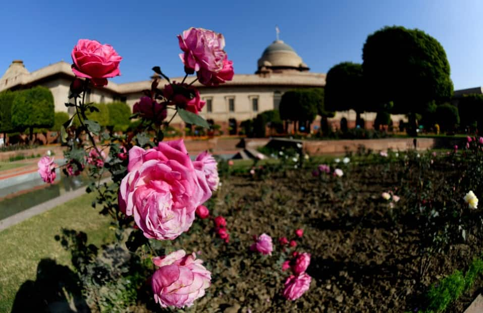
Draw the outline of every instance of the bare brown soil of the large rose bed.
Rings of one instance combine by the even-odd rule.
[[[464,244],[436,254],[420,275],[418,230],[410,218],[394,218],[381,193],[400,183],[387,165],[370,171],[354,167],[342,178],[312,177],[310,171],[286,171],[263,180],[230,177],[208,203],[213,216],[223,215],[231,240],[216,237],[212,221],[197,220],[168,250],[199,251],[212,271],[207,295],[189,311],[227,312],[374,312],[413,311],[423,305],[421,295],[431,283],[465,269],[481,252],[480,241],[469,235]],[[401,222],[405,221],[405,222]],[[278,238],[294,239],[283,248]],[[272,256],[252,253],[253,235],[274,239]],[[310,289],[298,300],[281,297],[290,275],[281,265],[291,251],[312,255],[307,273]],[[451,308],[463,311],[481,291],[481,280]],[[151,307],[154,309],[155,307]]]

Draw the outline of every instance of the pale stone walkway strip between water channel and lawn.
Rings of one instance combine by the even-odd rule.
[[[101,183],[109,182],[110,180],[111,178],[104,178],[103,180],[101,180]],[[3,231],[4,229],[9,228],[12,225],[18,224],[40,213],[46,212],[58,205],[61,205],[69,200],[75,199],[83,194],[85,194],[85,187],[80,187],[75,191],[64,193],[63,195],[60,195],[57,198],[53,198],[51,200],[45,201],[31,208],[28,208],[25,211],[19,212],[11,217],[1,220],[0,231]]]

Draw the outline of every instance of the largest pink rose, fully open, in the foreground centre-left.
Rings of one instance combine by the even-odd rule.
[[[134,216],[147,238],[175,239],[187,231],[196,208],[211,196],[204,173],[194,168],[182,139],[129,150],[119,207]]]

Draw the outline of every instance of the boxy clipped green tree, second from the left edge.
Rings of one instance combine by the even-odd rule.
[[[54,124],[53,96],[48,88],[37,86],[17,91],[11,109],[13,126],[28,128],[30,142],[34,127],[50,128]]]

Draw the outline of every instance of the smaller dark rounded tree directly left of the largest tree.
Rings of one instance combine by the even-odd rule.
[[[326,77],[325,106],[329,111],[356,112],[356,125],[361,125],[361,113],[369,111],[365,96],[362,65],[342,62],[333,66]]]

